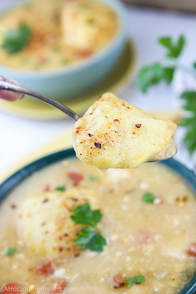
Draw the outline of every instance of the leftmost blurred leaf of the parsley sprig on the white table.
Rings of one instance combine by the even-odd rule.
[[[159,62],[145,66],[138,73],[136,86],[145,93],[148,87],[158,84],[162,80],[163,75],[164,70]]]

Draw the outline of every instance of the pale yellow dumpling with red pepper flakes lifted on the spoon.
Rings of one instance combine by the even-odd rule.
[[[162,160],[176,149],[171,141],[175,128],[175,122],[156,119],[106,93],[77,120],[71,136],[76,155],[84,163],[99,169],[127,169]]]

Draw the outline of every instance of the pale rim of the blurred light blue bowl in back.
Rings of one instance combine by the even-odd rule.
[[[27,4],[28,2],[34,2],[38,0],[19,0],[19,2],[14,3],[14,5],[7,5],[0,12],[0,18],[7,13],[8,11],[13,10],[19,6]],[[109,41],[106,46],[100,49],[98,52],[93,54],[90,57],[84,58],[81,61],[75,62],[70,65],[60,66],[52,69],[40,69],[40,70],[22,70],[17,68],[12,68],[6,65],[0,64],[0,71],[10,72],[11,74],[17,74],[19,77],[23,77],[24,79],[29,79],[29,77],[51,77],[51,76],[59,76],[62,74],[69,74],[75,71],[85,70],[89,66],[96,65],[99,63],[104,57],[111,54],[112,49],[115,46],[121,45],[125,43],[127,36],[127,11],[125,9],[125,5],[120,0],[95,0],[97,2],[103,2],[103,4],[109,6],[112,11],[115,12],[118,20],[118,29],[113,36],[113,38]],[[124,45],[124,44],[123,44]]]

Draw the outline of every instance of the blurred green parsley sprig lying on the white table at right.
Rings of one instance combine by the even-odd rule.
[[[177,41],[172,40],[169,36],[164,36],[158,39],[158,43],[167,49],[166,60],[154,62],[141,68],[138,72],[136,85],[143,93],[147,92],[151,86],[162,81],[170,84],[176,68],[182,68],[196,78],[196,62],[193,62],[192,68],[187,68],[178,62],[178,58],[185,46],[185,37],[183,35],[180,35]],[[168,64],[166,65],[166,63]],[[196,91],[185,91],[181,94],[181,98],[185,102],[183,108],[189,112],[181,122],[181,126],[186,128],[184,142],[190,154],[192,154],[196,150]]]

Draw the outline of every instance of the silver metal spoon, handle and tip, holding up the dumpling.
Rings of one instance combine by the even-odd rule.
[[[19,92],[19,93],[27,94],[29,96],[33,96],[39,100],[42,100],[42,101],[52,105],[55,108],[61,110],[62,112],[66,113],[71,118],[75,119],[76,121],[80,118],[80,116],[77,115],[77,113],[75,113],[73,110],[71,110],[67,106],[63,105],[62,103],[60,103],[56,100],[53,100],[52,98],[49,98],[48,96],[43,95],[39,92],[33,91],[33,90],[28,89],[26,87],[22,87],[16,81],[13,81],[13,80],[11,80],[7,77],[4,77],[2,75],[0,75],[0,89],[11,90],[14,92]],[[164,152],[165,157],[162,157],[163,153],[161,152],[158,155],[156,155],[155,157],[150,158],[147,162],[163,161],[163,160],[167,160],[167,159],[173,157],[177,153],[177,146],[173,141],[172,141],[172,143],[170,142],[169,144],[171,144],[172,150],[171,149],[169,150],[169,148],[166,148],[166,149],[168,149],[168,152]],[[168,146],[169,146],[169,144],[168,144]]]

